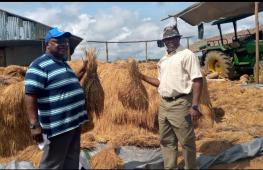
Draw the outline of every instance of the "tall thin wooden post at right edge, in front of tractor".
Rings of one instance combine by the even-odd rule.
[[[255,22],[256,22],[256,83],[259,83],[259,22],[258,22],[258,2],[255,2]]]

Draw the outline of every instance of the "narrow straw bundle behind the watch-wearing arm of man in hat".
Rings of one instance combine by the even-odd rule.
[[[197,121],[198,128],[211,128],[214,125],[215,114],[210,101],[206,77],[203,75],[203,88],[200,98],[199,111],[202,117]]]

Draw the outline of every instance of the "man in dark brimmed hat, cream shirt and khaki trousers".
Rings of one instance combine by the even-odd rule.
[[[164,29],[167,53],[158,63],[158,79],[141,74],[141,79],[158,87],[161,151],[165,169],[177,168],[178,141],[183,148],[185,169],[197,168],[193,121],[200,112],[202,74],[198,58],[180,45],[177,26]]]

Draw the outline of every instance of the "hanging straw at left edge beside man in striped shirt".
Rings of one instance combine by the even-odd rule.
[[[24,105],[24,81],[1,89],[0,155],[10,156],[32,145]]]

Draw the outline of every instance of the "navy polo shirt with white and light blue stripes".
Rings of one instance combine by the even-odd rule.
[[[87,121],[84,91],[69,65],[43,54],[29,66],[25,93],[36,94],[38,119],[47,137],[70,131]]]

